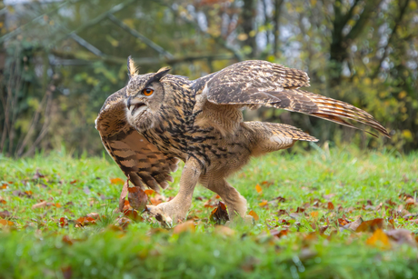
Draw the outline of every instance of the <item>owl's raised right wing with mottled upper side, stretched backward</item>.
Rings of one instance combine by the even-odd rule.
[[[369,125],[390,137],[383,125],[365,111],[323,95],[298,89],[309,86],[308,75],[283,65],[258,60],[244,61],[198,79],[195,83],[196,88],[202,88],[199,100],[205,99],[216,105],[265,105],[314,115],[360,129],[345,120],[349,119]]]

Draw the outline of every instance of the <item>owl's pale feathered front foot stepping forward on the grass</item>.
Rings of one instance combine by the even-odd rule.
[[[184,220],[187,209],[183,207],[170,201],[158,205],[147,205],[146,211],[164,227],[172,227],[173,223],[177,223],[178,220]]]

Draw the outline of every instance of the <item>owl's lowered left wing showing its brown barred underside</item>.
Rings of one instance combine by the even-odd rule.
[[[95,121],[102,143],[126,176],[144,189],[144,185],[165,189],[173,182],[170,172],[177,170],[179,160],[161,153],[125,120],[125,88],[110,95]]]

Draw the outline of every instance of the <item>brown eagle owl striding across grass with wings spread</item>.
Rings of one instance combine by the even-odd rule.
[[[245,218],[246,201],[226,177],[252,156],[298,140],[317,141],[291,125],[244,122],[245,108],[281,108],[355,128],[344,119],[354,120],[389,137],[363,110],[299,89],[309,86],[303,71],[244,61],[191,81],[168,75],[169,70],[139,75],[129,57],[129,83],[107,98],[96,119],[104,147],[136,186],[165,189],[173,182],[170,173],[184,161],[174,199],[147,207],[165,223],[184,219],[198,183],[221,196],[232,219]]]

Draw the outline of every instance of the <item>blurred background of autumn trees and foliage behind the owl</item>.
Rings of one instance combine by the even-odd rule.
[[[363,108],[392,131],[373,138],[261,109],[334,144],[418,148],[416,0],[5,0],[0,4],[0,152],[100,154],[95,117],[127,82],[164,65],[197,78],[246,59],[306,71],[314,93]],[[304,145],[304,146],[307,146]]]

